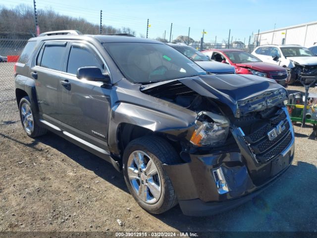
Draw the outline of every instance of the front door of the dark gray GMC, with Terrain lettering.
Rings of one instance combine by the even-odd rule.
[[[111,87],[76,77],[78,68],[84,66],[96,66],[108,73],[106,62],[92,45],[76,42],[70,44],[66,58],[66,70],[59,82],[63,127],[106,149]]]

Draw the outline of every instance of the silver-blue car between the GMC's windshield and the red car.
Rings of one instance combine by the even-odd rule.
[[[207,72],[214,74],[226,74],[235,73],[235,68],[228,64],[219,63],[214,60],[210,60],[207,56],[201,52],[195,50],[193,47],[181,45],[177,43],[167,43],[175,50],[179,51],[189,59],[195,61],[199,66],[205,69]]]

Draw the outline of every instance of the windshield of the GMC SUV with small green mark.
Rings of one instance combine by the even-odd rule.
[[[207,74],[204,69],[165,44],[105,43],[123,75],[135,83],[151,83]]]

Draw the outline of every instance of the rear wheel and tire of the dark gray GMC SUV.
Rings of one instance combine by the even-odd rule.
[[[34,119],[34,110],[29,97],[21,99],[19,104],[20,119],[22,122],[23,129],[28,136],[34,138],[47,133],[47,129],[38,125]]]

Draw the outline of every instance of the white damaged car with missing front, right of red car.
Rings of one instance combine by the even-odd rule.
[[[299,79],[300,74],[317,76],[317,56],[299,45],[265,45],[257,47],[252,55],[268,63],[290,69],[289,84]]]

